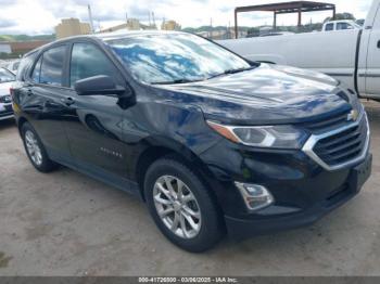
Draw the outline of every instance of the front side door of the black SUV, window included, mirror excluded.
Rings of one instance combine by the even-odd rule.
[[[92,175],[127,176],[123,143],[123,114],[117,95],[78,95],[77,80],[106,75],[125,87],[122,74],[103,50],[91,41],[72,44],[66,100],[74,119],[65,122],[71,151],[79,168]]]

